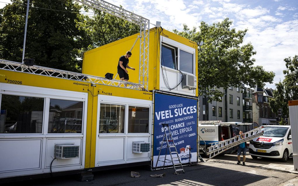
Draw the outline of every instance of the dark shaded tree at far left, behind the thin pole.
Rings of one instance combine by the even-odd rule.
[[[31,0],[25,57],[36,65],[80,72],[89,44],[81,6],[73,0]],[[27,0],[12,0],[0,10],[0,58],[21,62]]]

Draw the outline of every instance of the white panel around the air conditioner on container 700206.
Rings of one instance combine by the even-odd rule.
[[[80,145],[80,153],[79,158],[74,159],[56,159],[52,163],[53,167],[61,167],[61,166],[70,166],[70,165],[83,165],[82,162],[84,161],[84,157],[82,154],[85,154],[82,152],[82,139],[80,138],[60,138],[60,139],[47,139],[46,140],[46,162],[45,162],[45,168],[49,168],[51,165],[52,160],[55,157],[54,151],[55,151],[55,144],[69,144],[69,143],[75,143],[75,145]],[[84,159],[83,159],[84,158]]]

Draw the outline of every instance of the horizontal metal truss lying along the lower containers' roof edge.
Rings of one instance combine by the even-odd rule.
[[[46,68],[42,66],[27,66],[24,63],[1,60],[0,59],[0,69],[8,71],[16,71],[26,74],[36,74],[41,76],[56,77],[61,79],[75,80],[79,82],[91,83],[91,86],[99,85],[109,85],[109,86],[118,86],[125,87],[134,90],[145,90],[140,84],[121,81],[116,79],[106,79],[99,76],[91,76],[87,74],[80,74],[70,71],[63,71],[54,68]]]

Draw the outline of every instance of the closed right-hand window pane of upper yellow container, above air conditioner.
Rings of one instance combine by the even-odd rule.
[[[179,70],[193,74],[193,54],[180,50]]]

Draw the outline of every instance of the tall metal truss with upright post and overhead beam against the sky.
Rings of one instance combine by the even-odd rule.
[[[140,59],[139,84],[148,90],[148,62],[149,62],[149,19],[127,11],[106,1],[75,0],[89,7],[117,16],[140,26]]]

